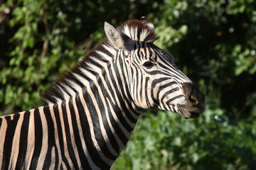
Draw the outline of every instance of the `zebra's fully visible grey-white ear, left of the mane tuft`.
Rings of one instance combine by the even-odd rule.
[[[132,49],[132,39],[129,38],[122,31],[117,30],[110,23],[105,22],[104,25],[105,33],[107,38],[110,40],[112,45],[120,50],[131,50]]]

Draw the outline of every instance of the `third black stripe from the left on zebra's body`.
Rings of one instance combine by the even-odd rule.
[[[34,114],[34,125],[35,125],[35,149],[33,151],[30,169],[36,169],[36,166],[38,165],[38,158],[40,156],[40,152],[42,149],[42,142],[43,142],[43,128],[42,128],[42,121],[41,121],[41,115],[39,113],[39,109],[35,108],[35,111],[33,114]]]

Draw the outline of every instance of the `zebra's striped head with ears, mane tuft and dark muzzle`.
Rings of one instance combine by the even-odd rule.
[[[105,23],[105,33],[122,67],[138,108],[159,108],[180,113],[183,118],[198,118],[205,109],[205,97],[181,72],[169,52],[154,45],[157,40],[149,19],[130,20],[119,28]]]

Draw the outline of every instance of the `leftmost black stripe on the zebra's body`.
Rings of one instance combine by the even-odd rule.
[[[4,152],[2,159],[1,169],[9,169],[10,157],[11,157],[11,147],[14,140],[14,133],[16,130],[16,125],[18,123],[18,118],[20,117],[19,113],[13,115],[13,120],[11,120],[11,115],[7,115],[4,118],[7,122],[6,135],[4,137]]]

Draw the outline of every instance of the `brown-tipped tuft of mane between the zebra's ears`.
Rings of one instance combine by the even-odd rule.
[[[154,42],[158,39],[154,30],[139,20],[129,20],[118,29],[135,41]]]

